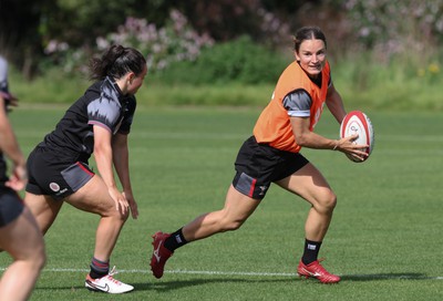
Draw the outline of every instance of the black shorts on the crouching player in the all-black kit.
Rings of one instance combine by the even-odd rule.
[[[95,174],[84,162],[66,162],[38,146],[28,157],[27,191],[62,199],[83,187]]]

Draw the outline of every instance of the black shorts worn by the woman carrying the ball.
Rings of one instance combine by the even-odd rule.
[[[238,152],[233,185],[241,194],[262,199],[272,181],[284,179],[309,160],[299,153],[285,152],[249,137]]]

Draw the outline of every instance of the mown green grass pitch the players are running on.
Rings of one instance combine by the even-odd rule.
[[[24,153],[63,108],[11,114]],[[277,186],[241,229],[177,250],[156,280],[150,236],[223,206],[237,150],[259,111],[140,107],[131,168],[141,215],[125,225],[111,262],[135,291],[107,295],[83,288],[97,217],[65,205],[45,237],[48,264],[31,300],[443,300],[443,113],[367,113],[375,131],[368,162],[303,152],[338,195],[320,257],[342,276],[339,284],[296,276],[309,207]],[[337,137],[338,131],[324,112],[317,132]],[[9,263],[1,253],[0,268]]]

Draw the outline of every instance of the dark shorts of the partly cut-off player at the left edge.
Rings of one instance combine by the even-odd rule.
[[[14,190],[8,187],[0,188],[0,227],[18,218],[23,208],[23,201]]]

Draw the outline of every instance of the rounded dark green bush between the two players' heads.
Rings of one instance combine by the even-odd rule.
[[[197,60],[172,64],[156,77],[188,84],[275,83],[288,63],[287,56],[241,37],[204,49]]]

